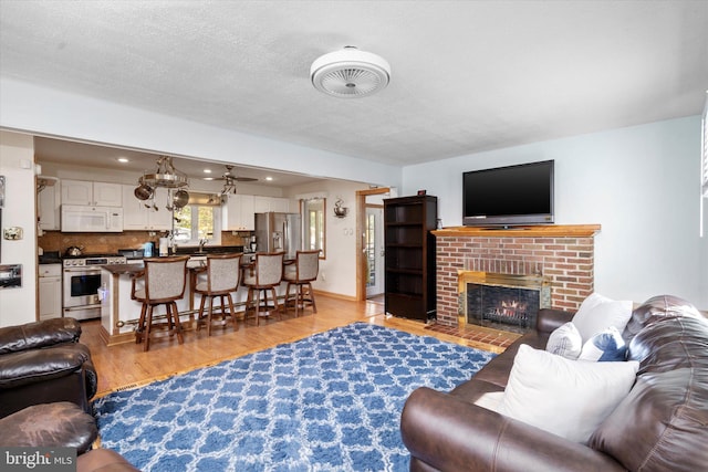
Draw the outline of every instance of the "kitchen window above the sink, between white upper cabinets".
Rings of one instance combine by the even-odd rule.
[[[221,244],[221,208],[207,204],[187,204],[174,213],[175,242],[198,245],[201,240]]]

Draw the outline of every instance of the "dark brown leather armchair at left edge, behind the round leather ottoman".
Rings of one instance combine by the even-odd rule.
[[[0,328],[0,418],[55,401],[91,412],[97,376],[80,336],[81,324],[74,318]]]

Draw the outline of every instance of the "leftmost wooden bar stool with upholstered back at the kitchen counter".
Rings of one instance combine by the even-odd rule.
[[[144,261],[145,269],[133,277],[131,298],[143,303],[140,319],[135,331],[135,343],[145,340],[143,350],[149,349],[153,327],[165,327],[170,336],[177,335],[179,344],[185,342],[177,301],[185,296],[188,260],[188,255],[149,258]],[[138,287],[137,282],[140,279],[144,283]],[[165,305],[166,321],[153,325],[153,310],[157,305]]]

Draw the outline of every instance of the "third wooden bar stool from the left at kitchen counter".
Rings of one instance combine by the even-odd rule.
[[[275,287],[283,280],[284,255],[284,252],[257,252],[253,265],[243,270],[243,285],[248,286],[246,312],[253,310],[256,326],[260,323],[261,311],[267,313],[264,316],[270,316],[273,311],[280,315]],[[269,292],[272,298],[270,304],[268,301]],[[262,304],[261,293],[263,294]]]

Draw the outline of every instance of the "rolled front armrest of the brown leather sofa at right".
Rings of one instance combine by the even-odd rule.
[[[454,395],[421,387],[400,417],[412,455],[440,471],[624,471],[608,455]]]

